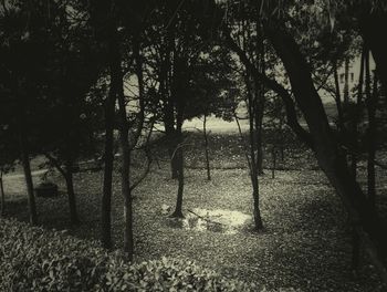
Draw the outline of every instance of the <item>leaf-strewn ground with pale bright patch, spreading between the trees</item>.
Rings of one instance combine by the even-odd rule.
[[[346,212],[323,173],[316,170],[310,154],[286,152],[285,160],[279,164],[285,170],[275,171],[275,178],[265,169],[260,179],[264,230],[255,232],[250,217],[252,196],[245,161],[236,140],[226,143],[224,139],[231,138],[212,137],[216,147],[211,152],[210,181],[206,179],[199,148],[187,150],[184,198],[187,219],[184,221],[168,218],[168,207],[172,210],[175,206],[177,181],[170,179],[168,164],[160,152],[160,168],[154,164],[134,194],[136,261],[163,255],[189,258],[221,274],[253,281],[268,289],[386,291],[365,255],[358,272],[351,270],[351,230]],[[138,173],[144,168],[143,161],[136,163]],[[265,164],[270,166],[270,160]],[[378,190],[386,190],[385,174],[377,174]],[[6,178],[7,213],[28,220],[25,195],[18,191],[17,179]],[[102,171],[75,175],[82,221],[79,227],[69,225],[63,180],[57,175],[51,179],[60,185],[61,192],[55,198],[38,198],[40,222],[48,228],[67,229],[80,238],[98,239]],[[19,184],[21,186],[22,180]],[[112,215],[116,248],[123,241],[122,206],[116,171]],[[213,215],[215,210],[218,215]],[[209,225],[206,221],[196,228],[202,218],[195,220],[190,211],[201,215]],[[232,213],[230,211],[239,211],[236,216],[247,219],[232,232],[227,231],[230,230],[227,222],[221,223],[222,228],[213,223],[220,219],[219,213]],[[203,215],[206,212],[208,216]]]

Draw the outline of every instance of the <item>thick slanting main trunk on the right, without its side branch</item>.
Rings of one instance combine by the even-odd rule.
[[[342,198],[352,220],[358,225],[358,233],[369,243],[367,251],[374,264],[385,277],[387,273],[383,259],[387,255],[386,227],[348,171],[345,156],[333,136],[322,101],[313,85],[310,67],[292,36],[275,27],[266,27],[266,33],[290,76],[292,91],[311,132],[318,165]]]

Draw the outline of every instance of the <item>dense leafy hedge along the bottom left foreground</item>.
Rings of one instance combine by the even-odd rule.
[[[128,264],[96,241],[0,219],[0,291],[257,291],[192,261]]]

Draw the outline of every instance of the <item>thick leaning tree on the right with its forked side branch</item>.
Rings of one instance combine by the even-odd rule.
[[[268,3],[268,11],[274,11],[270,9],[273,9],[275,4]],[[285,21],[281,17],[278,17],[275,22],[266,18],[264,20],[264,33],[285,67],[292,93],[304,115],[308,131],[305,131],[297,123],[294,115],[294,103],[289,92],[276,81],[261,74],[237,44],[231,43],[230,48],[239,55],[243,64],[254,73],[257,79],[282,97],[287,113],[287,123],[315,153],[320,167],[346,206],[357,234],[367,242],[367,252],[381,271],[381,275],[385,277],[385,265],[380,261],[386,255],[384,248],[387,243],[385,227],[370,208],[360,187],[348,170],[345,154],[335,139],[321,96],[314,87],[311,65],[306,61],[302,48],[290,33]]]

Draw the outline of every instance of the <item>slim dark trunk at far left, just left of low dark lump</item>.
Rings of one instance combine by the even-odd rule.
[[[22,126],[19,133],[19,142],[20,142],[20,150],[21,150],[21,161],[23,165],[24,178],[25,178],[25,185],[27,185],[28,202],[29,202],[29,209],[30,209],[30,223],[38,225],[36,205],[35,205],[35,196],[33,192],[33,182],[32,182],[32,175],[31,175],[31,167],[30,167],[28,142],[27,142],[24,131],[22,129]]]

